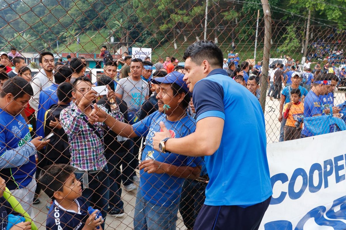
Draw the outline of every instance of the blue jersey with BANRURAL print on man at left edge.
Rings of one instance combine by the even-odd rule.
[[[18,114],[12,116],[0,109],[0,156],[6,152],[25,145],[31,141],[29,128],[24,117]],[[0,175],[6,180],[9,190],[26,187],[33,180],[36,172],[35,154],[29,157],[29,162],[19,167],[12,167],[0,170]],[[7,178],[6,178],[7,177]]]

